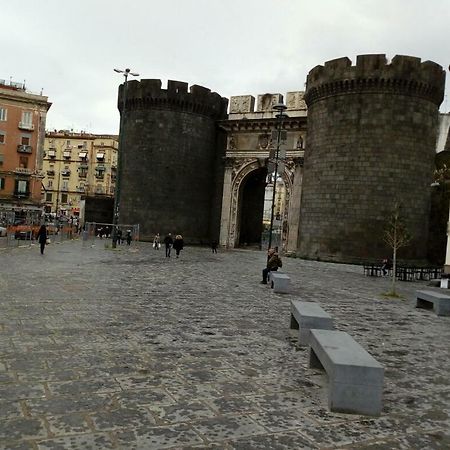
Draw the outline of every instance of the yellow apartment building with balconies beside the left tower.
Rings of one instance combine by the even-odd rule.
[[[76,217],[87,196],[114,197],[118,136],[67,130],[46,133],[43,202],[46,213]]]

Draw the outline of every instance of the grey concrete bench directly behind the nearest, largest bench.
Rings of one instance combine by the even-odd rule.
[[[309,345],[311,329],[332,330],[333,319],[317,303],[291,300],[291,330],[299,330],[299,345]]]

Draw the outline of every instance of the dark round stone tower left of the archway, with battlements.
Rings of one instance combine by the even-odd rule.
[[[202,86],[188,91],[179,81],[167,89],[161,80],[128,82],[120,223],[139,223],[142,240],[157,232],[182,234],[189,243],[218,235],[225,138],[216,121],[226,117],[227,105]]]

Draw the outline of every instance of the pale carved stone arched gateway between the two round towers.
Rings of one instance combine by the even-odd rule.
[[[283,181],[278,223],[285,251],[296,251],[302,166],[306,133],[306,106],[302,92],[287,94],[287,118],[282,128],[287,132],[280,159],[278,177]],[[273,106],[282,101],[280,94],[231,97],[228,120],[220,126],[227,133],[225,173],[222,195],[220,244],[227,248],[261,243],[267,162],[276,146],[272,131],[277,119]],[[278,189],[278,188],[277,188]]]

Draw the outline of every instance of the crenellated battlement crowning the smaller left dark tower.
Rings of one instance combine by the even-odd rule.
[[[117,106],[123,107],[124,85],[119,87]],[[209,116],[213,119],[226,117],[228,99],[199,85],[169,80],[167,89],[162,88],[159,79],[131,80],[127,83],[127,110],[169,109]]]

